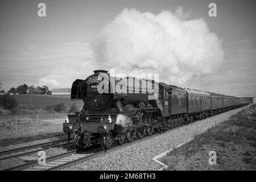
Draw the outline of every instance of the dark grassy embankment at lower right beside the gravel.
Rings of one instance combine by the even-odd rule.
[[[256,170],[256,105],[232,115],[160,159],[167,170]],[[217,164],[210,165],[209,151]]]

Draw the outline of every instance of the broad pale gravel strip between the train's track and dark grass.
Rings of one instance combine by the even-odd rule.
[[[175,146],[203,133],[209,127],[226,121],[231,115],[238,113],[247,106],[240,107],[213,117],[190,123],[167,131],[156,137],[134,143],[119,150],[110,152],[86,162],[61,170],[158,170],[161,166],[152,158],[174,148]]]

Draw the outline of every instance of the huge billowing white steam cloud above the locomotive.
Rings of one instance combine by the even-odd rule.
[[[183,20],[189,14],[182,7],[175,14],[180,17],[123,9],[93,44],[96,63],[123,73],[159,73],[170,84],[214,73],[224,57],[221,40],[203,18]]]

